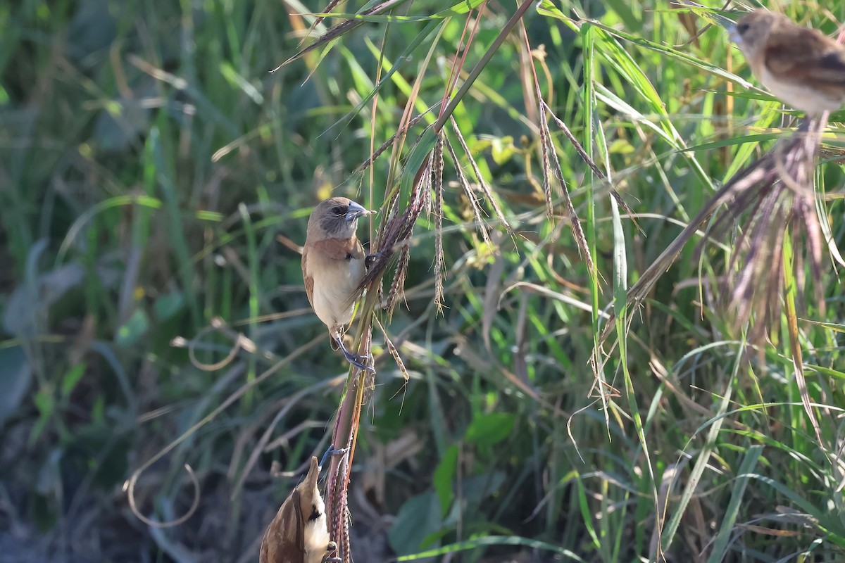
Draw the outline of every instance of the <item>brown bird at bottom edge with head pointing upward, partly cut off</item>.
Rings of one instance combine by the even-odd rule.
[[[323,497],[317,488],[319,469],[312,456],[305,480],[287,495],[264,532],[259,563],[322,563],[337,549],[330,540]]]

